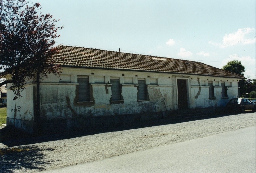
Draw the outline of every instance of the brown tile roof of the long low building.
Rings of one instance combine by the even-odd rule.
[[[229,78],[244,78],[235,73],[221,70],[204,63],[139,55],[93,48],[57,46],[59,52],[53,55],[56,64],[62,67],[146,71],[174,74],[194,74]]]

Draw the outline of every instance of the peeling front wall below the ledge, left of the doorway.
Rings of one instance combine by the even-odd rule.
[[[123,103],[110,104],[111,85],[91,84],[92,102],[76,102],[76,85],[42,84],[40,86],[41,119],[70,119],[78,117],[133,114],[172,110],[172,87],[150,85],[150,101],[137,101],[137,86],[122,85]],[[66,97],[70,101],[66,100]]]

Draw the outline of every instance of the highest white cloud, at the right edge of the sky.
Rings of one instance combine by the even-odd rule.
[[[216,43],[209,41],[209,44],[212,44],[214,46],[219,46],[221,48],[225,48],[228,46],[233,46],[237,44],[253,44],[255,43],[255,38],[248,38],[253,37],[254,35],[254,28],[240,28],[236,32],[232,32],[230,34],[225,34],[223,37],[222,43]]]

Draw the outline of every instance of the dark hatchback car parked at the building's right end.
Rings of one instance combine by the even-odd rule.
[[[227,103],[227,108],[230,110],[240,110],[244,112],[245,110],[256,111],[256,104],[247,98],[233,98]]]

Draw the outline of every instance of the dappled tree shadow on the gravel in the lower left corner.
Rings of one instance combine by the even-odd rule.
[[[53,150],[47,148],[44,150]],[[17,172],[17,170],[33,170],[43,171],[45,170],[45,164],[50,165],[51,162],[44,158],[42,149],[32,146],[20,146],[12,148],[0,149],[0,172]]]

